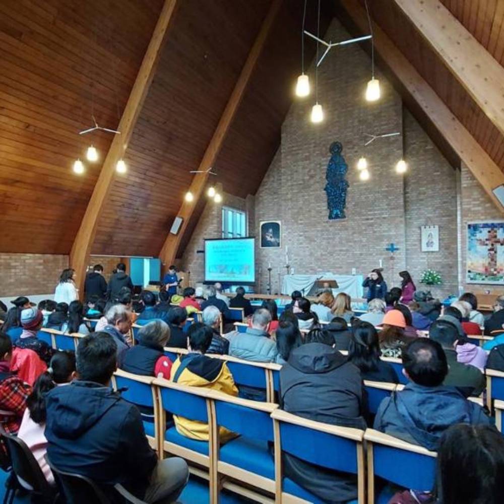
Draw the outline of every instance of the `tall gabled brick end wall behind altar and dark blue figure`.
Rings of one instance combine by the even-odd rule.
[[[334,20],[325,38],[342,40],[348,34]],[[335,51],[319,74],[324,122],[314,125],[309,121],[313,96],[294,101],[289,110],[281,146],[256,194],[254,213],[249,212],[254,222],[250,234],[256,236],[260,235],[260,221],[282,221],[281,249],[261,249],[257,243],[256,289],[261,292],[266,292],[269,262],[272,291],[280,292],[286,245],[295,273],[349,274],[356,268],[366,274],[382,260],[389,286],[399,284],[402,269],[410,270],[419,284],[421,272],[434,268],[442,274],[444,284],[432,288],[433,293],[444,297],[457,292],[456,172],[403,110],[400,96],[379,69],[382,98],[373,104],[365,102],[369,72],[370,59],[359,46]],[[402,135],[364,146],[364,133],[393,132]],[[342,143],[348,165],[345,220],[328,219],[324,192],[329,146],[334,141]],[[355,168],[361,155],[369,163],[367,182],[359,180]],[[395,173],[395,164],[403,156],[409,164],[405,176]],[[196,256],[195,250],[203,248],[204,237],[220,236],[220,211],[214,210],[214,204],[207,205],[184,254],[184,266],[191,268],[193,282],[203,277],[203,255]],[[439,226],[438,253],[420,250],[420,226],[425,224]],[[385,250],[390,242],[400,248],[394,262]]]

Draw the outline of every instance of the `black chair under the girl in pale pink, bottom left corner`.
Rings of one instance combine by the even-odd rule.
[[[27,490],[34,501],[44,502],[44,504],[56,502],[58,497],[57,488],[47,483],[38,462],[26,446],[26,443],[17,436],[8,434],[2,426],[0,426],[0,435],[5,439],[12,464],[12,473],[8,481],[8,492],[4,498],[4,504],[12,504],[16,490],[21,488]],[[20,479],[25,481],[31,489],[22,485]]]

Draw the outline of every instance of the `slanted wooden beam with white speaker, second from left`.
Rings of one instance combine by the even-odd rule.
[[[168,233],[164,245],[161,248],[159,257],[161,259],[161,263],[165,267],[172,264],[175,260],[175,255],[177,253],[180,240],[182,239],[185,228],[187,227],[187,224],[191,219],[191,216],[193,215],[196,203],[202,196],[205,184],[207,183],[209,175],[206,170],[213,165],[222,147],[222,144],[224,143],[227,131],[231,125],[236,111],[238,110],[246,86],[248,84],[248,81],[250,80],[250,76],[254,71],[254,67],[256,66],[257,60],[259,59],[273,21],[275,20],[278,10],[280,9],[281,3],[282,0],[273,0],[273,2],[271,3],[271,7],[268,11],[268,14],[266,15],[266,18],[263,21],[254,45],[248,53],[245,65],[243,65],[243,68],[241,69],[240,76],[236,81],[224,112],[219,119],[217,128],[215,129],[212,139],[210,140],[207,150],[205,151],[205,154],[203,155],[203,158],[198,167],[198,170],[203,171],[204,173],[196,173],[189,187],[189,191],[191,191],[191,193],[193,193],[194,195],[194,200],[191,203],[184,200],[182,202],[182,205],[180,206],[180,210],[178,211],[178,217],[181,217],[183,219],[178,234],[175,235]]]

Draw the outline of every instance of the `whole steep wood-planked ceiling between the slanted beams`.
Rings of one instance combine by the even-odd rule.
[[[362,0],[361,0],[362,1]],[[192,174],[263,22],[269,0],[183,0],[125,159],[100,216],[95,254],[156,256]],[[504,2],[443,0],[502,65]],[[163,0],[0,2],[0,251],[68,254],[100,162],[71,170],[92,142],[107,152]],[[299,73],[302,0],[284,0],[243,101],[217,157],[224,191],[255,194],[280,143]],[[336,6],[336,7],[334,7]],[[369,0],[371,15],[474,138],[504,170],[504,139],[392,0]],[[313,7],[313,9],[311,9]],[[307,26],[314,30],[315,3]],[[324,0],[322,31],[336,14]],[[369,44],[367,44],[369,45]],[[313,44],[306,44],[306,59]],[[415,111],[415,103],[409,101]],[[418,112],[418,115],[421,115]],[[420,117],[419,117],[420,118]],[[421,122],[447,157],[456,156],[428,117]],[[201,212],[196,207],[182,253]]]

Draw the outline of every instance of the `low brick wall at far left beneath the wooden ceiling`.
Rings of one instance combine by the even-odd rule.
[[[68,256],[49,254],[0,254],[0,296],[50,294]]]

